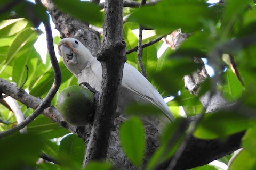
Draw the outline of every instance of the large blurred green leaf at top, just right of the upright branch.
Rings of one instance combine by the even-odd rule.
[[[209,14],[210,8],[203,1],[164,0],[156,5],[141,7],[127,20],[166,33],[179,28],[192,32],[200,29],[200,19]]]

